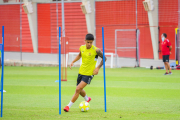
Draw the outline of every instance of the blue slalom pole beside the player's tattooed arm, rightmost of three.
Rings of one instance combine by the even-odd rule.
[[[102,27],[102,46],[103,46],[103,74],[104,74],[104,110],[107,112],[106,107],[106,71],[105,71],[105,51],[104,51],[104,27]]]

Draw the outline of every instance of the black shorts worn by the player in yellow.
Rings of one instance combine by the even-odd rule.
[[[91,83],[91,80],[93,79],[93,77],[94,77],[94,75],[86,76],[86,75],[78,74],[77,85],[78,85],[81,81],[84,81],[85,83],[90,84],[90,83]]]

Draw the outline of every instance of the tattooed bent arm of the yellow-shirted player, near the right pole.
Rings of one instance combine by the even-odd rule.
[[[96,49],[96,53],[97,53],[97,55],[98,55],[99,57],[102,58],[102,60],[101,60],[100,64],[98,65],[98,67],[97,67],[96,69],[94,69],[94,71],[93,71],[93,74],[94,74],[94,75],[97,75],[97,74],[98,74],[99,69],[100,69],[100,68],[102,67],[102,65],[103,65],[103,53],[101,52],[100,49]],[[106,60],[107,60],[107,58],[105,57],[105,61],[106,61]]]

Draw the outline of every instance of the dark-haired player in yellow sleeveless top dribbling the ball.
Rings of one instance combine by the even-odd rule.
[[[79,74],[77,77],[77,87],[75,93],[69,102],[69,104],[64,108],[65,112],[68,112],[70,107],[79,97],[79,94],[85,99],[85,101],[90,102],[91,98],[87,96],[86,92],[84,91],[84,87],[87,84],[90,84],[91,80],[93,79],[94,75],[97,75],[99,69],[103,65],[103,53],[100,49],[95,47],[93,44],[94,36],[92,34],[87,34],[85,38],[85,45],[81,45],[79,48],[80,52],[79,55],[72,61],[70,64],[70,69],[73,64],[78,61],[82,57],[82,64],[79,69]],[[98,56],[102,58],[101,63],[95,68]],[[105,58],[106,61],[107,58]]]

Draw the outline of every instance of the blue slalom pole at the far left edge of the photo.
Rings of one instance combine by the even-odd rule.
[[[1,117],[3,116],[3,81],[4,81],[4,26],[2,26],[2,73],[1,73]]]

